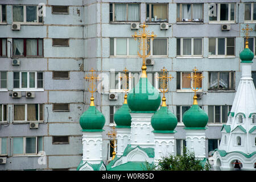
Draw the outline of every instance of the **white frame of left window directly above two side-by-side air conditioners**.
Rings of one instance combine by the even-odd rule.
[[[14,71],[15,72],[15,71]],[[27,88],[22,88],[22,73],[28,73],[27,74]],[[35,88],[30,88],[30,73],[35,73]],[[19,88],[13,88],[13,91],[44,91],[44,74],[43,74],[43,88],[38,88],[38,73],[43,72],[26,72],[26,71],[20,71],[19,72]]]

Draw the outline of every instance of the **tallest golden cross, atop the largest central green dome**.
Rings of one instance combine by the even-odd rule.
[[[139,51],[138,51],[138,55],[139,57],[142,58],[143,60],[143,64],[142,64],[142,76],[141,77],[147,77],[147,73],[146,73],[146,57],[150,56],[150,51],[148,53],[146,53],[146,51],[148,51],[148,49],[150,48],[150,39],[154,40],[154,38],[156,37],[156,35],[154,34],[154,32],[150,32],[146,31],[145,28],[148,27],[146,25],[146,23],[144,22],[143,24],[141,24],[141,26],[139,26],[141,28],[143,28],[143,30],[139,30],[138,34],[137,32],[134,33],[134,35],[131,35],[135,40],[139,39]],[[142,55],[141,55],[141,51],[142,51]]]

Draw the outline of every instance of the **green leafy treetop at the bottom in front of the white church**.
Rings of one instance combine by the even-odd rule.
[[[202,166],[201,161],[195,158],[195,153],[184,148],[183,155],[164,156],[159,160],[158,166],[147,166],[149,171],[209,171],[211,168],[208,162]]]

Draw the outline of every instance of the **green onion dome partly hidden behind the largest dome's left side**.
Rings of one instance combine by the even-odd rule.
[[[127,105],[127,95],[125,95],[125,101],[122,107],[115,112],[114,121],[117,125],[115,127],[131,127],[131,115]]]

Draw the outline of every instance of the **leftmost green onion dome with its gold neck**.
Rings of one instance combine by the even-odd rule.
[[[80,126],[82,127],[82,131],[104,131],[102,128],[105,125],[105,117],[100,111],[97,110],[93,101],[94,98],[91,97],[89,108],[82,113],[80,117]]]

